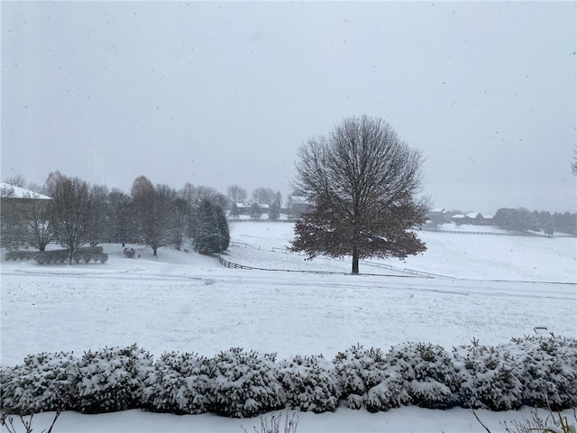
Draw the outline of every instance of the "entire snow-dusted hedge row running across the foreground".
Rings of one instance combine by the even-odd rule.
[[[577,340],[526,336],[506,345],[470,345],[447,352],[406,343],[364,349],[354,345],[333,361],[233,348],[212,358],[165,353],[154,361],[136,345],[28,355],[1,366],[4,412],[68,410],[87,413],[142,408],[252,417],[291,407],[324,412],[342,403],[389,410],[413,404],[515,410],[522,405],[561,410],[577,406]]]

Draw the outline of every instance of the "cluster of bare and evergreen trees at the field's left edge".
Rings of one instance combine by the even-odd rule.
[[[30,185],[22,176],[6,181],[28,189],[27,197],[15,197],[14,189],[3,189],[2,241],[4,245],[30,244],[44,251],[50,242],[58,242],[69,251],[69,263],[83,244],[146,244],[154,255],[162,246],[180,249],[186,240],[202,244],[202,252],[218,253],[228,246],[229,234],[224,207],[229,198],[216,189],[185,184],[177,190],[165,184],[153,185],[145,176],[133,181],[130,194],[104,185],[90,185],[60,171],[51,172],[42,187]],[[40,199],[41,195],[50,199]],[[202,215],[204,208],[209,216]],[[208,205],[206,205],[206,203]],[[208,207],[207,207],[208,206]],[[217,243],[208,243],[203,235],[206,225],[215,221],[210,233]],[[205,230],[198,226],[204,225]]]

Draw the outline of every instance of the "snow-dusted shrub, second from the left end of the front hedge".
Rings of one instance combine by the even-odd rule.
[[[151,355],[136,345],[85,352],[78,363],[78,410],[102,413],[142,407],[151,368]]]

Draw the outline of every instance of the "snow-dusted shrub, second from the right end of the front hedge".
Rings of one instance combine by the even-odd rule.
[[[521,369],[507,346],[471,345],[453,348],[459,369],[460,404],[466,408],[516,410],[522,404]]]

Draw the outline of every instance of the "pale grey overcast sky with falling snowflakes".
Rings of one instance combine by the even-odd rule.
[[[574,211],[574,2],[2,2],[2,180],[287,196],[350,115],[424,152],[435,207]]]

